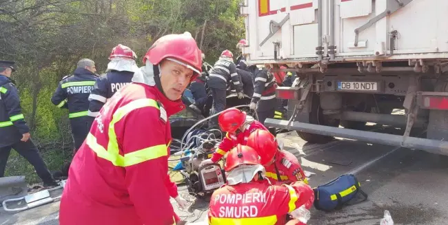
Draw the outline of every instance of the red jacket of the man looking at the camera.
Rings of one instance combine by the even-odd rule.
[[[157,87],[131,83],[116,92],[74,156],[60,224],[174,224],[168,118],[184,108]]]

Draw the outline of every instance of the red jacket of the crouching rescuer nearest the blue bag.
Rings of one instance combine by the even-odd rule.
[[[296,181],[303,181],[305,184],[308,184],[307,177],[305,177],[305,173],[303,173],[301,164],[298,163],[296,156],[289,151],[277,151],[274,163],[265,167],[265,169],[266,178],[269,179],[272,184],[289,184]],[[278,170],[281,180],[278,180],[276,169]]]

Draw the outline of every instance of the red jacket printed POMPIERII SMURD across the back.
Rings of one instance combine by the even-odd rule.
[[[214,224],[285,224],[286,215],[303,204],[310,208],[313,190],[303,182],[269,185],[267,180],[224,185],[210,198],[208,221]]]

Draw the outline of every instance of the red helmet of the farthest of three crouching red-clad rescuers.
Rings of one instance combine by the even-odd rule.
[[[238,128],[243,126],[246,120],[246,112],[239,109],[226,109],[219,115],[219,127],[225,132],[234,133]]]

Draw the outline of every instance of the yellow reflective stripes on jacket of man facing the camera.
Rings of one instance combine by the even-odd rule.
[[[143,107],[155,107],[159,109],[159,105],[157,104],[156,100],[152,100],[149,98],[134,100],[131,103],[120,107],[114,112],[112,121],[110,121],[108,131],[108,149],[106,150],[103,146],[98,144],[98,142],[96,142],[96,138],[91,133],[89,133],[89,136],[86,140],[88,146],[97,154],[98,157],[108,160],[118,167],[129,167],[134,164],[145,162],[147,160],[153,160],[156,158],[167,156],[168,146],[166,144],[159,144],[131,153],[125,153],[124,156],[121,156],[119,153],[119,144],[116,140],[116,133],[114,129],[115,123],[119,122],[126,114],[130,113],[134,109],[140,109]]]

